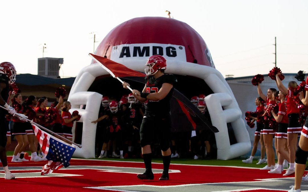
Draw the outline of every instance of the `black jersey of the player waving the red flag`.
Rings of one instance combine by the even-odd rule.
[[[176,83],[176,77],[172,74],[164,74],[157,79],[154,76],[145,77],[145,83],[147,84],[146,92],[147,93],[155,93],[160,90],[164,83],[170,83],[173,86]],[[145,112],[155,113],[160,115],[166,115],[170,113],[170,99],[173,94],[173,89],[169,91],[167,96],[159,101],[149,100]]]

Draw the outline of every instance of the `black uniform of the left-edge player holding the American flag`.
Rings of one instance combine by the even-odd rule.
[[[1,96],[4,101],[7,101],[9,98],[9,79],[7,78],[6,74],[0,73],[0,83],[5,83],[6,87],[2,89]],[[6,115],[8,112],[5,109],[0,108],[0,146],[5,147],[6,146]]]

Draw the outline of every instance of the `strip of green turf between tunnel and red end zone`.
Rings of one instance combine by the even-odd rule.
[[[29,156],[31,155],[30,151],[26,151]],[[14,151],[7,151],[8,156],[12,156]],[[83,158],[80,158],[83,159]],[[94,158],[93,158],[94,159]],[[98,158],[95,158],[98,159]],[[118,159],[118,158],[104,158],[103,160],[110,160],[110,161],[134,161],[134,162],[143,162],[143,159]],[[155,163],[163,163],[162,159],[152,159],[152,162]],[[211,160],[201,160],[201,159],[181,159],[181,158],[175,158],[171,159],[171,163],[175,164],[189,164],[189,165],[219,165],[219,166],[240,166],[240,167],[257,167],[261,168],[264,167],[266,164],[263,163],[261,165],[257,165],[258,162],[257,159],[253,160],[253,163],[247,164],[243,163],[242,159],[236,158],[236,159],[230,159],[230,160],[217,160],[217,159],[211,159]]]

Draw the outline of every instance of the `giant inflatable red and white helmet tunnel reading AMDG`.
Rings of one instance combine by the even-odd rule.
[[[189,25],[171,18],[134,18],[112,29],[95,51],[95,55],[140,72],[144,72],[148,57],[156,54],[166,58],[165,72],[176,75],[177,90],[188,99],[206,95],[210,119],[219,130],[215,133],[217,159],[248,153],[251,143],[237,101],[224,77],[215,69],[205,41]],[[133,89],[144,87],[142,83],[124,81]],[[72,130],[73,139],[83,146],[76,149],[75,157],[95,157],[96,124],[91,121],[98,117],[102,95],[119,101],[128,93],[93,60],[78,73],[68,97],[72,104],[70,111],[77,110],[82,115]],[[75,134],[75,128],[82,130],[80,134]]]

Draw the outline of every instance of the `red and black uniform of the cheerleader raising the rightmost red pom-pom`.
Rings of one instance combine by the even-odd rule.
[[[286,112],[289,119],[288,133],[300,133],[302,131],[302,126],[298,122],[299,108],[297,108],[295,101],[292,99],[293,97],[293,92],[288,90],[288,94],[285,98]]]

